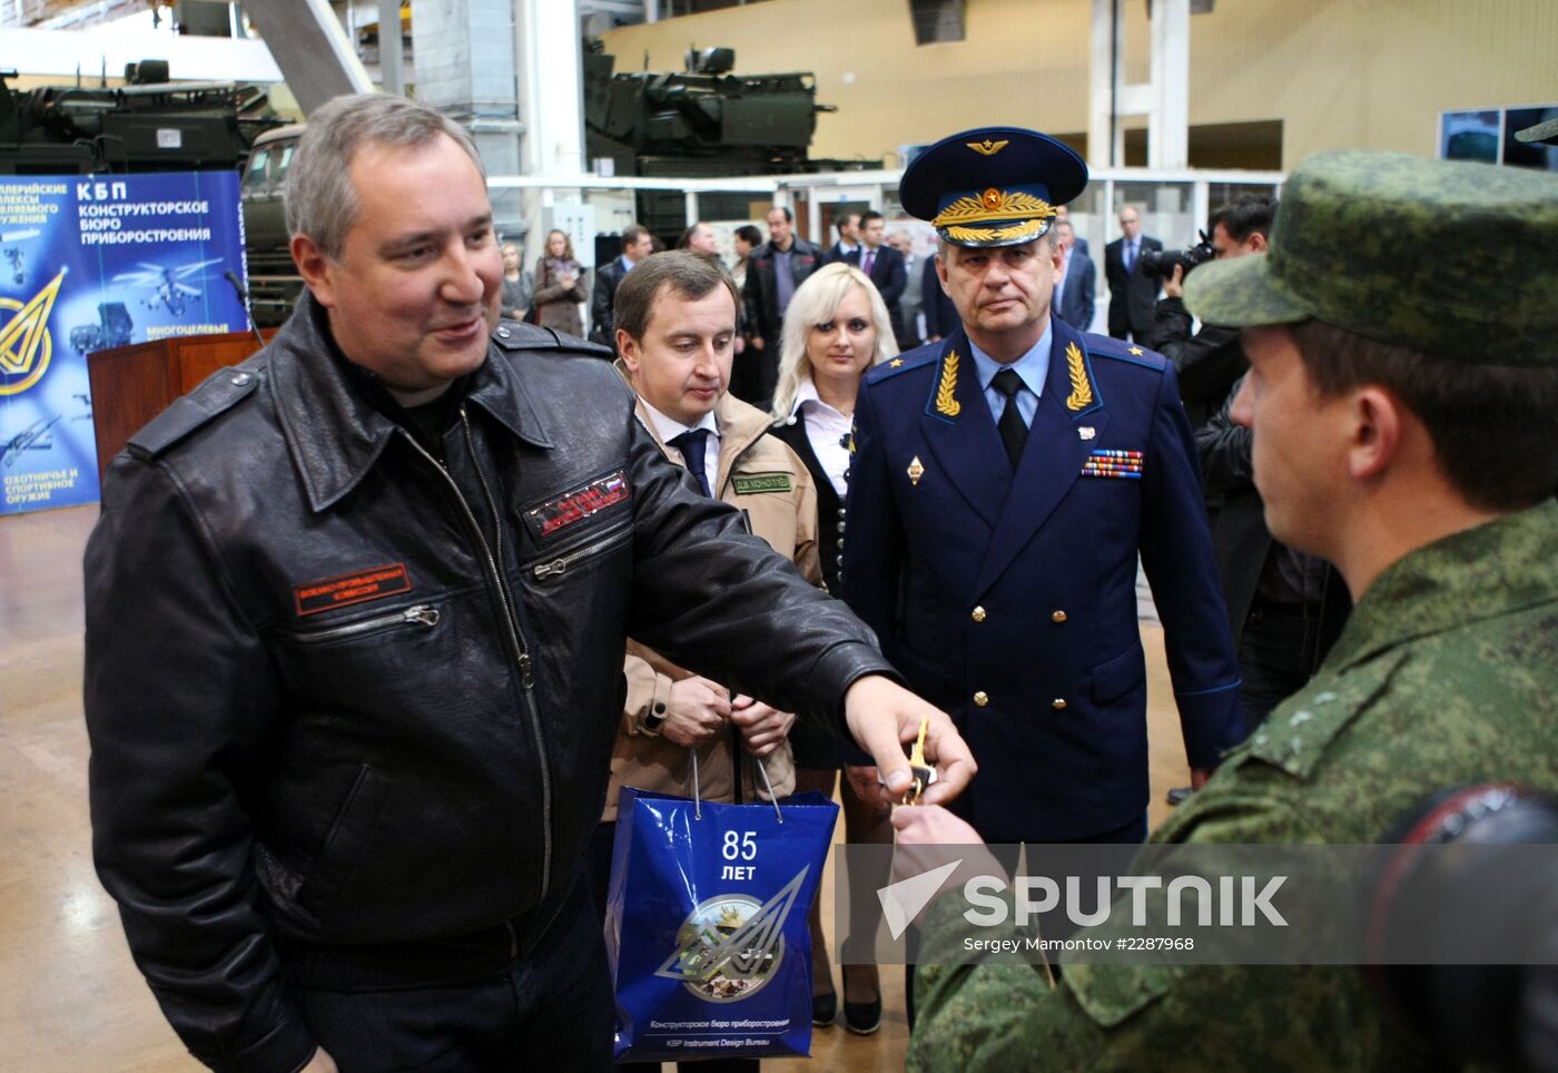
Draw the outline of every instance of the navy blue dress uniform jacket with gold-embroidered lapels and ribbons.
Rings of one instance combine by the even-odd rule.
[[[871,369],[855,405],[840,595],[952,713],[980,765],[952,808],[992,843],[1084,838],[1147,808],[1137,553],[1190,765],[1243,738],[1173,366],[1053,329],[1016,473],[961,329]]]

